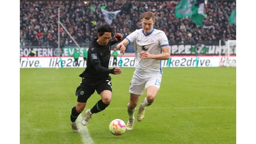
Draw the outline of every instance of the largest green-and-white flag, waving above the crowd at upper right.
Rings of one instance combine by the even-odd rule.
[[[175,7],[175,17],[191,17],[196,25],[203,26],[204,0],[180,0]]]

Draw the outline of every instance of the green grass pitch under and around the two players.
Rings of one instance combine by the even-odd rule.
[[[84,68],[20,68],[20,143],[81,143],[70,126],[75,91]],[[236,68],[163,68],[161,88],[142,122],[122,136],[108,125],[127,122],[129,83],[134,68],[111,75],[113,97],[86,126],[95,144],[236,143]],[[141,95],[140,102],[145,93]],[[100,99],[95,92],[86,109]],[[81,113],[84,116],[84,111]],[[138,106],[135,115],[137,115]]]

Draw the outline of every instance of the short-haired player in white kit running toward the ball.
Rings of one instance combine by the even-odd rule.
[[[142,29],[136,29],[122,40],[122,42],[116,45],[116,48],[118,50],[120,49],[120,52],[124,54],[125,46],[134,44],[136,55],[136,68],[129,88],[130,100],[127,105],[129,115],[127,130],[133,129],[134,113],[144,88],[146,97],[143,102],[141,102],[138,110],[138,122],[143,120],[146,107],[154,102],[160,88],[163,74],[161,60],[168,60],[170,58],[167,36],[163,31],[153,28],[155,24],[154,13],[143,13],[141,24]]]

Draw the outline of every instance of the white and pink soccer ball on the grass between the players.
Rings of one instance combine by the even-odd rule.
[[[112,120],[112,122],[109,124],[109,131],[115,136],[121,136],[126,131],[126,125],[123,120]]]

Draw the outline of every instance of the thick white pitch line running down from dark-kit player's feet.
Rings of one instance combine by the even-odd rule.
[[[90,136],[87,127],[81,124],[82,119],[83,117],[81,115],[77,117],[77,125],[79,127],[79,133],[83,141],[83,144],[93,144],[92,137]]]

